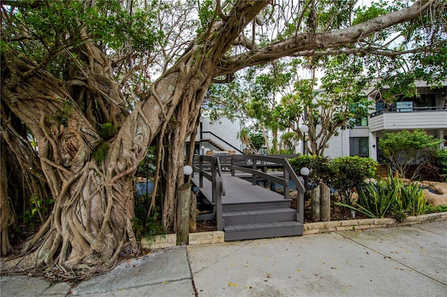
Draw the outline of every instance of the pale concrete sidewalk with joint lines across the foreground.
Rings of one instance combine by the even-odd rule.
[[[447,296],[447,221],[163,249],[82,282],[1,277],[3,296]]]

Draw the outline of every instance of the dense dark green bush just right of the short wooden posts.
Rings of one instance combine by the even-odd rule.
[[[367,178],[374,178],[376,166],[377,162],[371,158],[337,157],[330,164],[330,185],[346,203],[351,203],[353,192],[365,184]]]

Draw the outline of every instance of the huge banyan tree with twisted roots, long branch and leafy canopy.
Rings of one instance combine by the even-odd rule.
[[[173,226],[184,141],[212,83],[283,57],[340,54],[383,61],[378,77],[405,70],[402,55],[418,62],[421,77],[444,75],[445,8],[439,0],[386,8],[326,0],[1,1],[1,253],[12,250],[13,210],[29,208],[31,197],[52,199],[34,236],[15,249],[20,269],[66,277],[110,269],[121,252],[138,253],[133,175],[149,145],[156,146],[152,203],[163,195],[163,224]]]

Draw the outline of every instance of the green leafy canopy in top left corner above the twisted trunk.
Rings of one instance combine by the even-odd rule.
[[[142,54],[154,49],[163,38],[153,21],[154,7],[149,5],[142,10],[135,6],[133,14],[129,14],[117,0],[98,0],[95,4],[39,1],[33,8],[26,5],[11,10],[2,7],[9,18],[8,29],[2,28],[7,32],[5,40],[8,42],[1,46],[1,51],[15,50],[22,57],[42,63],[55,77],[64,78],[66,59],[77,59],[78,49],[87,41],[107,48],[110,54],[124,44],[132,45]],[[2,24],[6,23],[2,21]],[[24,29],[26,38],[16,38],[24,36]],[[71,55],[67,56],[64,49],[69,49]]]

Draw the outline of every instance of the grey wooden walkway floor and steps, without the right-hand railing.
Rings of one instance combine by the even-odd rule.
[[[214,185],[214,197],[219,196],[219,201],[221,199],[221,208],[219,208],[219,201],[213,201],[212,179],[203,178],[203,187],[199,187],[199,174],[194,173],[191,178],[191,182],[213,208],[212,214],[204,215],[202,218],[199,215],[198,220],[216,219],[219,229],[217,218],[221,217],[220,226],[225,231],[225,240],[302,235],[303,224],[299,222],[300,215],[291,208],[291,199],[243,179],[242,177],[247,178],[247,173],[236,172],[232,175],[230,171],[219,170],[219,172],[222,194],[223,192],[224,194],[217,195],[216,185]],[[272,176],[274,175],[279,175],[279,173]],[[218,187],[220,189],[220,184]],[[214,200],[218,199],[214,198]]]

